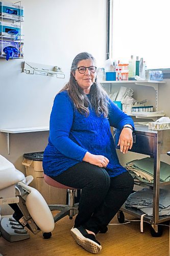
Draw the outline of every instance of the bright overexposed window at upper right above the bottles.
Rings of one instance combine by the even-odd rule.
[[[143,57],[148,69],[170,68],[169,0],[111,0],[110,57]]]

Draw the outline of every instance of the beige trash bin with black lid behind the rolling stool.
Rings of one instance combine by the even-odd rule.
[[[43,152],[35,152],[24,154],[25,159],[22,165],[25,165],[26,175],[32,175],[34,180],[30,186],[36,188],[47,204],[65,204],[66,203],[66,189],[53,187],[45,183],[42,168]]]

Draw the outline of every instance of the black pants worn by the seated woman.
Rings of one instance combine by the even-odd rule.
[[[133,178],[126,172],[110,178],[104,168],[81,162],[51,177],[61,184],[81,188],[75,227],[98,233],[105,228],[133,190]]]

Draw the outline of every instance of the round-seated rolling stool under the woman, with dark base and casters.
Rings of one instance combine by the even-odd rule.
[[[65,186],[53,180],[52,178],[50,178],[45,174],[44,174],[44,181],[50,186],[67,189],[67,193],[68,193],[68,204],[48,204],[48,207],[50,208],[50,210],[60,210],[60,212],[54,217],[54,222],[56,223],[57,221],[59,221],[60,219],[62,219],[67,215],[69,216],[69,219],[72,220],[72,217],[74,217],[78,213],[79,203],[75,204],[75,192],[77,188]],[[51,238],[51,236],[52,236],[51,232],[43,233],[44,239]]]

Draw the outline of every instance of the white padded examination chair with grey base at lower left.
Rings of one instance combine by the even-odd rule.
[[[29,186],[32,180],[32,176],[25,177],[0,155],[0,232],[10,242],[29,238],[25,227],[34,234],[40,230],[51,233],[54,229],[50,208],[39,191]],[[14,210],[13,218],[1,218],[1,205],[5,204]]]

